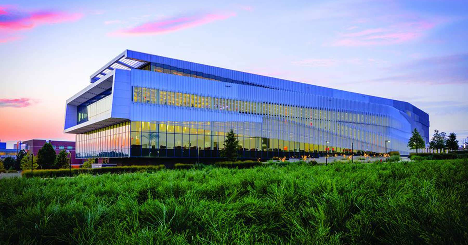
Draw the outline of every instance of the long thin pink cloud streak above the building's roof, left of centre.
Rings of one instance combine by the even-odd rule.
[[[118,36],[158,35],[176,30],[203,25],[210,22],[224,20],[235,16],[235,13],[203,14],[190,16],[177,16],[174,18],[151,21],[136,27],[121,29],[110,33]]]

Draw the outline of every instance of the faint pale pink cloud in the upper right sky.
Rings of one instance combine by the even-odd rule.
[[[335,46],[368,46],[391,45],[409,42],[423,37],[428,30],[436,26],[436,22],[409,21],[389,25],[386,28],[374,28],[341,34],[334,41]]]

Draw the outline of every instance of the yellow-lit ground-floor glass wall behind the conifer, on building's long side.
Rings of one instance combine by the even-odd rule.
[[[249,130],[258,130],[249,123],[215,122],[214,124],[210,122],[132,121],[131,156],[219,157],[220,150],[224,148],[226,132],[231,128],[244,133],[248,133]],[[236,136],[240,146],[238,153],[244,158],[314,157],[314,152],[318,153],[314,149],[314,144],[310,143],[251,137],[248,134],[236,134]]]

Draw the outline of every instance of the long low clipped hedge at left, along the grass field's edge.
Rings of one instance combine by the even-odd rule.
[[[105,174],[105,173],[133,173],[133,172],[155,172],[164,169],[164,165],[148,165],[148,166],[121,166],[121,167],[104,167],[94,169],[44,169],[44,170],[33,170],[32,175],[40,178],[57,178],[57,177],[68,177],[70,174],[76,176],[79,174]],[[22,171],[21,175],[26,178],[31,178],[31,171]]]

